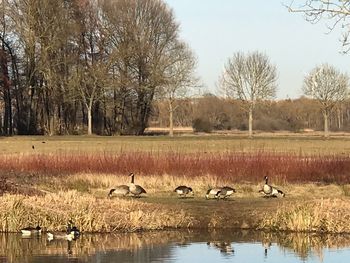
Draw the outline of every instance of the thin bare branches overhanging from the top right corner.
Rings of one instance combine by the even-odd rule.
[[[299,5],[296,2],[293,0],[286,5],[290,12],[304,14],[306,21],[311,23],[318,23],[322,19],[328,20],[327,27],[330,31],[336,27],[342,30],[341,41],[344,52],[347,53],[350,50],[350,1],[304,0],[303,4]]]

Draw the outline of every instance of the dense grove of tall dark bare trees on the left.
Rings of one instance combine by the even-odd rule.
[[[142,134],[153,100],[195,65],[161,0],[3,0],[0,9],[3,135]]]

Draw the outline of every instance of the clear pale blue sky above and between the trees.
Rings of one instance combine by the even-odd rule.
[[[350,73],[350,54],[341,53],[341,32],[329,33],[326,20],[315,25],[289,13],[282,3],[290,0],[165,2],[180,24],[181,38],[197,56],[205,91],[216,93],[224,64],[238,51],[258,50],[276,65],[279,99],[300,97],[304,76],[321,63]]]

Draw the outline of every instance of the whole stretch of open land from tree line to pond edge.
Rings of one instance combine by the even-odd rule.
[[[38,223],[63,230],[72,218],[87,232],[350,232],[349,149],[344,135],[1,138],[0,231]],[[130,171],[147,196],[108,199],[109,189],[129,183]],[[285,198],[262,198],[264,175]],[[178,185],[191,186],[194,198],[178,198]],[[205,200],[208,188],[224,185],[237,193],[227,201]]]

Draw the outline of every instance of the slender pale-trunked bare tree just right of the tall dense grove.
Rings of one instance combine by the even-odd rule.
[[[172,51],[171,63],[166,64],[165,84],[160,89],[160,96],[168,104],[169,112],[169,136],[174,136],[173,113],[178,107],[178,99],[185,98],[189,89],[195,87],[198,82],[194,76],[196,59],[191,50],[184,43],[176,43]]]

